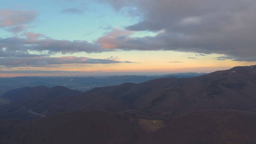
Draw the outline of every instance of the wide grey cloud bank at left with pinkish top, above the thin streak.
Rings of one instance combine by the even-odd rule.
[[[43,55],[113,51],[102,48],[100,44],[88,43],[84,40],[56,40],[34,32],[26,32],[21,36],[23,37],[0,37],[0,57],[36,56],[35,54],[29,55],[29,51],[36,51],[38,53],[43,53]]]

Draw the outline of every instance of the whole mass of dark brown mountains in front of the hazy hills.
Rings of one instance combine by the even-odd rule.
[[[3,144],[256,143],[256,65],[86,92],[25,87],[1,99]]]

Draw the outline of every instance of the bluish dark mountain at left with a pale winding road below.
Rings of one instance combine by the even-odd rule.
[[[1,99],[9,101],[9,103],[0,105],[0,119],[35,119],[39,116],[43,116],[42,114],[37,114],[37,112],[41,113],[45,108],[54,105],[56,100],[63,99],[65,97],[75,97],[81,93],[82,92],[78,90],[71,90],[63,86],[55,86],[52,88],[46,86],[33,88],[24,87],[9,90],[1,97]]]

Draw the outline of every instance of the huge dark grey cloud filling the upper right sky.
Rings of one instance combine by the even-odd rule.
[[[108,48],[215,53],[243,60],[251,60],[256,54],[255,0],[100,1],[116,10],[137,9],[142,18],[127,26],[126,32],[164,30],[156,36],[105,36],[110,40]]]

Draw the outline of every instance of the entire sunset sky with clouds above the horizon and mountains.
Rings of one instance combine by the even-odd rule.
[[[4,0],[0,77],[256,64],[255,0]]]

